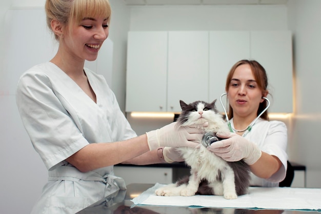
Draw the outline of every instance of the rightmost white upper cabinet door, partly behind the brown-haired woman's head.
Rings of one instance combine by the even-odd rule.
[[[269,112],[293,111],[292,42],[290,31],[251,31],[251,57],[268,74]]]

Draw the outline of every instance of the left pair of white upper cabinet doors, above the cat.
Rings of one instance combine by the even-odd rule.
[[[208,99],[208,31],[129,32],[126,111]]]

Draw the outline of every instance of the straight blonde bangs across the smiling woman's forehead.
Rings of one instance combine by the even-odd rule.
[[[108,0],[74,0],[70,21],[80,23],[87,17],[105,17],[110,21],[111,7]]]

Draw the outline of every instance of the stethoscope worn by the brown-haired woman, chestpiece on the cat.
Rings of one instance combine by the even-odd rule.
[[[257,115],[257,117],[250,123],[250,125],[248,125],[248,127],[246,127],[246,128],[243,129],[243,130],[237,130],[237,129],[235,129],[235,128],[232,127],[231,122],[230,122],[230,120],[229,120],[229,117],[228,117],[228,115],[227,115],[226,108],[225,108],[225,106],[224,106],[224,104],[223,104],[223,102],[222,102],[222,98],[223,98],[223,96],[225,96],[225,95],[227,95],[226,92],[223,93],[222,95],[220,95],[219,102],[220,102],[220,104],[222,105],[222,107],[223,107],[223,109],[224,109],[224,113],[225,113],[226,120],[227,120],[227,125],[228,125],[228,127],[229,127],[229,129],[230,129],[231,132],[235,132],[235,131],[236,131],[236,132],[243,132],[243,131],[245,131],[245,132],[243,133],[243,135],[242,135],[243,137],[245,137],[245,136],[251,131],[251,129],[252,129],[252,127],[254,126],[254,124],[256,123],[256,121],[257,121],[257,120],[260,118],[260,116],[261,116],[266,110],[268,110],[268,108],[270,107],[270,101],[269,101],[269,99],[267,99],[265,96],[263,96],[262,98],[265,99],[265,100],[268,102],[267,107],[265,107],[265,109],[264,109],[260,114]],[[206,133],[203,135],[202,144],[203,144],[203,146],[208,147],[208,146],[210,146],[212,143],[215,143],[216,141],[219,141],[219,140],[222,140],[222,139],[218,138],[214,132],[211,132],[211,131],[210,131],[210,132],[206,132]]]

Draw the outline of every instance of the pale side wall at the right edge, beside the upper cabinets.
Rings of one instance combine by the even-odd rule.
[[[321,1],[291,0],[288,8],[296,84],[291,157],[307,166],[307,186],[321,187]]]

